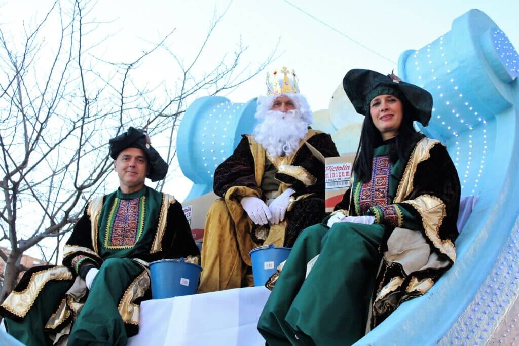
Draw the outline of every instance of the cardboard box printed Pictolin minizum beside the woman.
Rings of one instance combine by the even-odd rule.
[[[326,212],[333,212],[337,203],[343,199],[344,192],[350,187],[355,153],[327,157],[324,160],[325,206]]]

